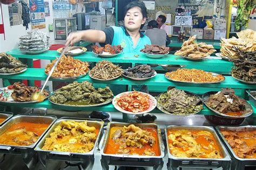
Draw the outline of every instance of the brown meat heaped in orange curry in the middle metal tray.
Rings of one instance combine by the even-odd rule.
[[[157,129],[154,128],[141,129],[133,124],[112,127],[104,153],[159,156],[157,139]]]

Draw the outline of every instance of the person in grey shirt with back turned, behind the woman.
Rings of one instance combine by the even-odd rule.
[[[158,29],[158,23],[156,20],[151,20],[147,24],[147,29],[145,34],[150,38],[151,44],[167,46],[170,44],[170,38],[167,36],[164,30]]]

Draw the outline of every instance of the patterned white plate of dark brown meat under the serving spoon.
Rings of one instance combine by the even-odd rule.
[[[39,92],[38,87],[25,86],[21,82],[14,83],[8,87],[0,88],[0,103],[39,103],[49,97],[50,91],[43,90],[43,98],[35,101],[32,95]]]

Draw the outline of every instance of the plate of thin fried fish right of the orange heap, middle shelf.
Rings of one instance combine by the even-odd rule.
[[[123,69],[112,62],[102,60],[96,63],[96,66],[91,69],[89,76],[92,79],[100,81],[108,81],[117,79],[123,74]]]

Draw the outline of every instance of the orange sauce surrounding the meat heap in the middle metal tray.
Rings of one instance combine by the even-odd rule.
[[[116,154],[117,151],[119,150],[119,143],[115,143],[114,140],[111,138],[113,136],[113,133],[116,132],[116,130],[118,129],[122,129],[122,127],[113,127],[110,129],[110,137],[109,140],[107,141],[107,146],[106,149],[104,151],[104,153],[106,154]],[[150,132],[152,134],[152,136],[156,139],[156,144],[154,144],[153,146],[150,145],[145,145],[142,148],[137,148],[137,147],[127,147],[127,149],[130,150],[130,154],[136,154],[136,155],[143,155],[143,152],[146,149],[151,148],[151,150],[156,154],[156,156],[160,155],[160,151],[159,151],[159,144],[158,144],[158,136],[157,136],[157,130],[154,128],[140,128],[142,130],[145,130],[147,132]]]

